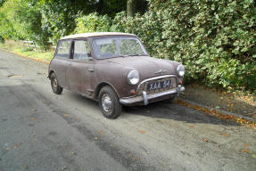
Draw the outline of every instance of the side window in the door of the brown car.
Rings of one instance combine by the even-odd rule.
[[[88,61],[91,57],[90,45],[85,40],[78,40],[74,43],[74,60]]]

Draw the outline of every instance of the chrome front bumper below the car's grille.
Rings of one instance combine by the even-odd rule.
[[[147,105],[148,100],[150,99],[158,98],[158,97],[169,95],[169,94],[179,95],[179,93],[183,91],[185,91],[185,87],[181,85],[178,85],[177,88],[174,88],[165,92],[155,93],[155,94],[146,94],[146,92],[143,91],[143,94],[141,96],[120,99],[120,103],[124,105],[131,105],[133,103],[144,102],[144,105]]]

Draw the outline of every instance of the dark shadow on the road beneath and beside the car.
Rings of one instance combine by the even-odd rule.
[[[99,110],[98,103],[88,99],[80,94],[70,93],[71,98],[76,102],[81,102],[90,107]],[[224,125],[224,126],[240,126],[239,124],[221,120],[213,116],[207,115],[204,112],[193,110],[186,106],[179,105],[177,103],[169,103],[165,101],[150,103],[147,106],[124,106],[121,114],[121,118],[132,118],[133,116],[143,116],[148,118],[163,118],[182,121],[186,123],[203,123],[213,125]]]

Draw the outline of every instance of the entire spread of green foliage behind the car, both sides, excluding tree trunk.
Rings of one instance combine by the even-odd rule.
[[[134,17],[120,12],[126,1],[119,1],[121,7],[117,2],[6,0],[0,40],[29,38],[45,45],[73,33],[135,33],[153,57],[184,63],[186,81],[256,90],[255,1],[148,0],[148,11]]]

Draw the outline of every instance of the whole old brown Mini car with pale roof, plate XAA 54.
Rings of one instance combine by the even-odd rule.
[[[54,94],[62,88],[99,102],[106,118],[122,105],[175,99],[185,88],[185,68],[177,61],[152,58],[136,35],[86,33],[63,37],[49,65]]]

